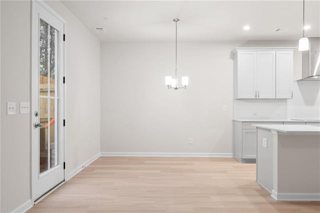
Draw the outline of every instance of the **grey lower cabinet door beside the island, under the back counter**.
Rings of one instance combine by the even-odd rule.
[[[242,130],[242,158],[256,157],[256,129]]]

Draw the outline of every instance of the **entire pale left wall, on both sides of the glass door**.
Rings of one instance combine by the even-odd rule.
[[[30,101],[30,1],[1,2],[1,212],[30,199],[30,118],[5,115]],[[66,175],[100,151],[100,42],[59,1],[66,19]],[[12,27],[18,26],[18,27]]]

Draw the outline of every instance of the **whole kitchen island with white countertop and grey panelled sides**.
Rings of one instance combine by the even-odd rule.
[[[320,200],[320,126],[253,126],[257,183],[275,200]]]

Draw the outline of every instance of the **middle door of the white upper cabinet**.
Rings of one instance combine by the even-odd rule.
[[[275,51],[258,51],[256,61],[256,97],[275,98]]]

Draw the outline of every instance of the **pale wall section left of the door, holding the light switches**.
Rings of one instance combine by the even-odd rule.
[[[30,99],[29,1],[1,0],[1,212],[30,198],[30,119],[6,102]],[[12,27],[18,26],[18,27]]]

